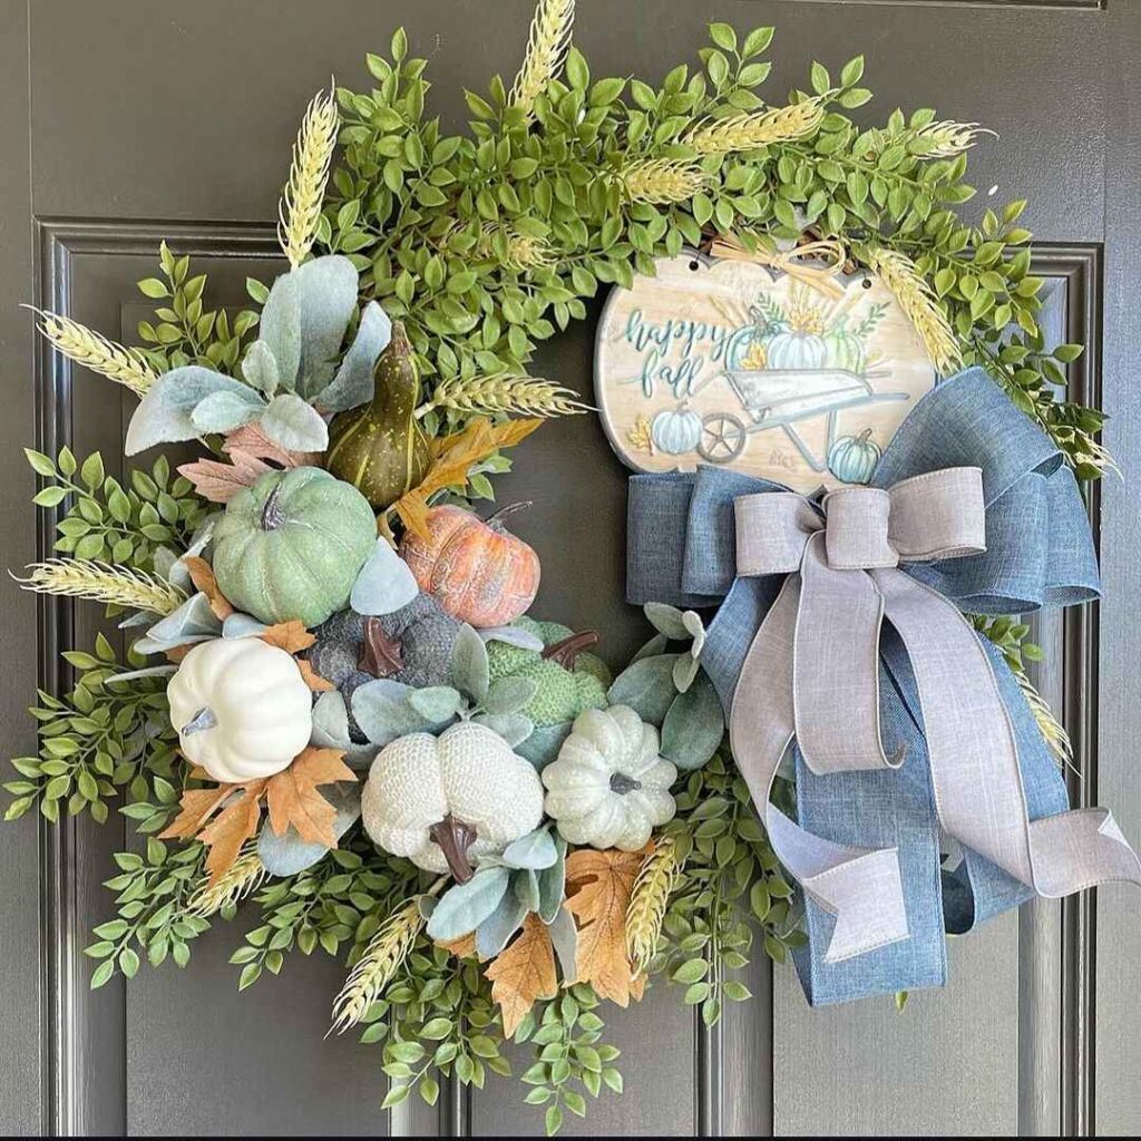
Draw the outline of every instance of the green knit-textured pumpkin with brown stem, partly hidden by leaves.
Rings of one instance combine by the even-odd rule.
[[[583,710],[606,705],[610,671],[593,654],[583,654],[598,636],[592,631],[574,633],[558,622],[535,622],[518,618],[515,625],[541,638],[545,649],[523,649],[501,641],[488,641],[487,657],[491,678],[534,678],[539,689],[520,712],[536,726],[563,725],[573,721]]]

